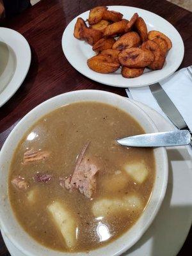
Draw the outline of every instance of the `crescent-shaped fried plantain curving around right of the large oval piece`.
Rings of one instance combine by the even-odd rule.
[[[141,45],[141,49],[149,50],[154,54],[154,61],[148,65],[149,68],[152,70],[158,70],[163,68],[164,61],[165,61],[165,54],[163,51],[161,51],[161,48],[159,45],[156,44],[156,42],[152,40],[147,40]]]

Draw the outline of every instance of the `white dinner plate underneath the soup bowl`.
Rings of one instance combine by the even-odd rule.
[[[132,101],[152,118],[159,131],[175,129],[154,109]],[[186,147],[167,148],[167,152],[169,179],[161,209],[147,232],[122,256],[175,256],[188,236],[192,220],[191,159]],[[2,235],[12,256],[25,256]]]

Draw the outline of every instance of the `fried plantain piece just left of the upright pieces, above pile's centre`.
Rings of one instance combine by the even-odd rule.
[[[116,35],[124,34],[125,29],[127,27],[127,22],[128,22],[128,20],[122,19],[121,21],[114,22],[113,24],[110,24],[105,29],[103,36],[104,37],[115,37]]]

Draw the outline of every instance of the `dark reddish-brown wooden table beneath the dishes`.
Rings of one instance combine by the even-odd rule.
[[[139,7],[168,20],[184,40],[185,55],[180,67],[192,64],[192,13],[172,3],[164,0],[42,0],[1,24],[25,36],[31,47],[32,60],[24,83],[12,99],[0,108],[0,148],[13,127],[26,113],[55,95],[81,89],[107,90],[125,95],[123,88],[104,86],[79,74],[68,63],[61,49],[61,36],[70,20],[79,13],[100,5]],[[179,256],[189,255],[191,244],[192,230]],[[10,253],[0,234],[0,256],[8,255]]]

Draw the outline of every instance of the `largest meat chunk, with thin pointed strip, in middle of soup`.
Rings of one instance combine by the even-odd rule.
[[[77,158],[76,168],[72,176],[65,180],[65,188],[72,191],[73,189],[79,189],[79,191],[91,198],[96,189],[96,177],[95,174],[99,171],[99,168],[93,163],[92,159],[84,157],[84,153],[89,143],[84,145],[81,154]],[[60,181],[60,185],[62,180]]]

